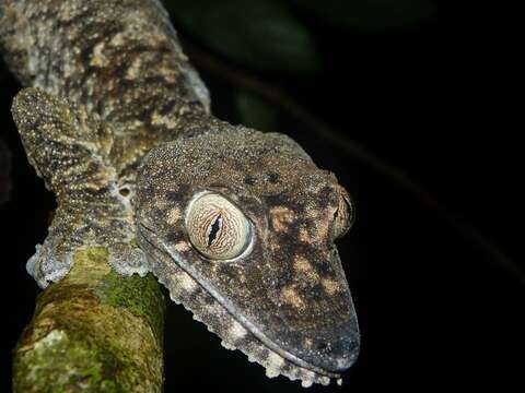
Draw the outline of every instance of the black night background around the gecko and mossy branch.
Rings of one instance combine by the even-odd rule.
[[[215,115],[288,133],[355,199],[357,224],[339,250],[362,350],[342,388],[311,391],[523,389],[517,10],[436,0],[176,0],[168,8]],[[37,294],[25,261],[54,209],[11,120],[19,88],[2,63],[2,392]],[[377,158],[363,159],[363,146]],[[398,169],[430,194],[407,190]],[[182,307],[170,305],[165,332],[166,392],[302,391],[223,349]]]

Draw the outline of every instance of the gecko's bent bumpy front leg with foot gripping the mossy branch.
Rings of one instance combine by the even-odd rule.
[[[129,195],[121,194],[110,160],[113,129],[36,88],[19,93],[12,111],[30,163],[58,203],[27,272],[45,287],[69,272],[75,250],[100,246],[108,248],[119,273],[145,274],[144,254],[133,242]]]

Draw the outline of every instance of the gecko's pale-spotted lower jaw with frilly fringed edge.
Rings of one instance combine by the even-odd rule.
[[[160,240],[147,226],[139,224],[138,240],[150,252],[149,262],[153,274],[170,289],[172,300],[182,303],[194,313],[194,319],[203,322],[208,330],[222,338],[228,349],[240,349],[248,360],[266,368],[270,378],[283,374],[291,380],[301,380],[303,386],[312,383],[328,384],[339,373],[312,365],[291,354],[271,341],[199,273],[186,263],[179,252]],[[159,261],[172,263],[160,263]],[[168,274],[161,269],[170,266]],[[353,362],[353,359],[351,359]],[[340,381],[340,380],[338,380]]]

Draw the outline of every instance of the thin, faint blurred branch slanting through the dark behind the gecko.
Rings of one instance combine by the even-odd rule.
[[[482,253],[489,255],[495,264],[511,273],[522,284],[525,284],[525,271],[520,264],[512,260],[505,251],[483,236],[470,223],[452,213],[446,206],[441,204],[429,190],[411,179],[401,168],[376,156],[365,146],[337,132],[284,91],[268,81],[260,81],[188,41],[184,43],[184,48],[191,59],[191,62],[196,64],[198,69],[202,69],[210,74],[228,81],[232,85],[249,91],[268,100],[306,126],[306,128],[318,138],[331,143],[335,147],[340,148],[368,168],[400,187],[419,202],[423,209],[434,212],[458,237],[474,245]]]

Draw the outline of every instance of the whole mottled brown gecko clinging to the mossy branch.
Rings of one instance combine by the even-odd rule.
[[[28,86],[14,121],[58,205],[26,265],[38,285],[102,246],[268,377],[340,381],[360,332],[336,176],[284,134],[215,118],[159,0],[1,0],[0,36]]]

